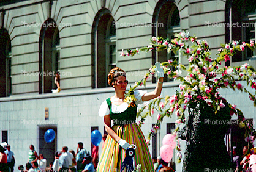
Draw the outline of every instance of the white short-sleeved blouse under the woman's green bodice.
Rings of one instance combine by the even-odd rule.
[[[143,90],[136,90],[134,91],[134,96],[136,98],[135,104],[143,104],[141,97],[145,95],[146,91]],[[113,113],[121,113],[124,112],[128,108],[128,104],[123,102],[120,105],[116,105],[112,103],[112,112]],[[110,114],[110,109],[108,109],[107,101],[105,100],[102,102],[100,109],[99,109],[99,116],[105,116]]]

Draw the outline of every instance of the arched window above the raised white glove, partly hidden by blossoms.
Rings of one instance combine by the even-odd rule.
[[[153,15],[154,23],[152,35],[156,37],[174,38],[176,33],[181,32],[179,9],[174,2],[168,0],[159,1],[156,5]],[[156,57],[154,61],[165,62],[167,60],[179,60],[179,54],[167,51],[160,51],[153,54]],[[165,76],[164,81],[168,81]]]

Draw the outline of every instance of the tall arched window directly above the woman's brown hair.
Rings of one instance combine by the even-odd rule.
[[[92,88],[108,87],[107,74],[115,66],[115,20],[108,9],[102,9],[92,26]]]

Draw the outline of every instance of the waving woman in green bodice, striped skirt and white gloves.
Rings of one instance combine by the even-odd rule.
[[[150,93],[141,90],[134,91],[136,100],[128,104],[124,101],[128,84],[125,71],[116,67],[108,73],[108,84],[115,88],[115,95],[102,102],[99,109],[99,116],[104,116],[108,136],[102,149],[97,171],[119,171],[125,158],[125,151],[130,144],[137,146],[134,156],[135,167],[140,164],[141,170],[154,170],[145,137],[135,121],[137,105],[161,94],[164,71],[159,62],[156,62],[156,75],[158,82],[155,90]],[[111,121],[113,126],[111,126]]]

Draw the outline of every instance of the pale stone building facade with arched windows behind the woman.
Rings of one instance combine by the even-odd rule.
[[[83,142],[91,152],[91,131],[104,133],[97,115],[100,104],[113,95],[107,73],[114,66],[127,71],[129,83],[139,81],[155,62],[180,54],[141,52],[120,57],[122,49],[147,46],[152,36],[171,38],[181,30],[207,40],[213,51],[232,40],[255,41],[255,3],[240,0],[29,0],[0,2],[0,129],[2,142],[15,152],[16,168],[27,162],[29,145],[43,153],[48,163],[62,146],[77,149]],[[255,52],[249,49],[226,65],[249,63],[256,67]],[[61,74],[61,92],[55,89],[55,73]],[[132,85],[132,84],[129,84]],[[162,95],[173,95],[179,83],[164,82]],[[244,84],[245,85],[245,84]],[[149,79],[147,90],[156,86]],[[144,88],[141,88],[144,89]],[[232,103],[255,121],[255,107],[247,95],[222,91]],[[233,116],[235,119],[236,116]],[[175,127],[176,116],[166,119],[152,139],[152,156],[159,155],[162,138]],[[145,136],[156,121],[142,126]],[[56,139],[45,143],[43,134],[54,129]],[[229,136],[228,136],[229,135]],[[238,144],[227,135],[227,148]],[[184,142],[182,142],[184,149]],[[99,149],[101,152],[101,147]],[[175,157],[176,159],[176,157]],[[181,170],[181,164],[176,164]]]

